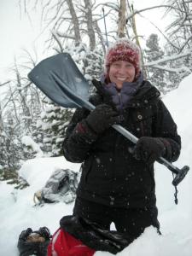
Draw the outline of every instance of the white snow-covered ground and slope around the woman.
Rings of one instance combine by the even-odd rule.
[[[169,93],[164,102],[172,113],[182,137],[182,154],[175,166],[192,166],[192,75],[180,84],[177,90]],[[73,203],[46,204],[35,207],[33,195],[46,183],[57,168],[79,170],[79,164],[67,162],[63,157],[36,158],[28,160],[20,169],[30,186],[15,190],[12,185],[0,182],[0,255],[18,255],[17,241],[21,230],[31,227],[38,230],[47,226],[51,233],[59,227],[62,216],[72,214]],[[165,166],[155,164],[157,205],[162,236],[148,227],[142,236],[132,242],[119,256],[191,256],[192,255],[192,175],[189,171],[178,185],[178,205],[174,204],[172,172]],[[112,255],[97,252],[96,256]]]

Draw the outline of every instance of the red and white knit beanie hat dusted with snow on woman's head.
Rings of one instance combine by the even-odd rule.
[[[109,67],[114,61],[129,61],[136,69],[136,77],[141,70],[140,49],[127,38],[119,38],[108,48],[105,57],[105,73],[108,74]]]

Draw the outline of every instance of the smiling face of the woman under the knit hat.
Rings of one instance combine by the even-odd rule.
[[[135,67],[128,61],[114,61],[109,67],[109,79],[119,90],[124,82],[133,82],[135,75]]]

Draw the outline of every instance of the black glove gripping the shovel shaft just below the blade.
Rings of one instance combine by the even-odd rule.
[[[97,134],[107,130],[111,125],[119,122],[118,112],[107,104],[101,104],[90,112],[88,117],[85,119],[86,123],[90,128]]]

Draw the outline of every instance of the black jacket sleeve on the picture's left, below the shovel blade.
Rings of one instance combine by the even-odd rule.
[[[66,137],[63,142],[63,154],[68,161],[83,162],[89,155],[97,135],[86,124],[85,118],[90,113],[85,108],[79,108],[67,126]]]

